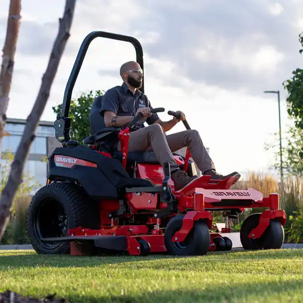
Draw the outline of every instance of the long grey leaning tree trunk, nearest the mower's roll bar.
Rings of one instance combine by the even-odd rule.
[[[10,209],[15,198],[17,189],[22,182],[22,174],[29,149],[35,138],[35,132],[45,105],[49,98],[52,83],[70,36],[70,28],[75,11],[76,0],[66,0],[63,19],[59,19],[59,32],[54,42],[49,63],[42,77],[40,90],[30,115],[27,118],[25,130],[12,163],[8,182],[2,192],[0,199],[0,241],[7,226]]]

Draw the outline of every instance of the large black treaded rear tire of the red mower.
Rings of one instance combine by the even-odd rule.
[[[27,216],[30,242],[37,253],[68,254],[69,241],[45,242],[41,238],[68,236],[68,229],[79,226],[98,228],[97,203],[71,183],[52,183],[33,197]]]

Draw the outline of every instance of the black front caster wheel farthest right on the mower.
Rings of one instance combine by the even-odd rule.
[[[243,248],[248,250],[281,248],[284,242],[284,229],[277,219],[270,220],[269,226],[260,238],[248,238],[251,230],[258,226],[260,216],[260,213],[256,213],[244,220],[240,230],[240,240]]]

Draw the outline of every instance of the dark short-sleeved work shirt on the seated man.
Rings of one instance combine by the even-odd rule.
[[[135,94],[127,87],[125,83],[121,86],[115,86],[106,91],[101,105],[101,115],[108,110],[113,112],[116,116],[135,116],[136,111],[140,107],[153,108],[146,95],[139,89],[136,89]],[[157,113],[153,113],[146,119],[148,125],[159,120]],[[138,122],[135,129],[144,127],[143,122]]]

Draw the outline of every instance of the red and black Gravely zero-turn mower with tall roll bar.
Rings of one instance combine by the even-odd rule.
[[[92,134],[83,144],[70,140],[72,90],[88,46],[97,37],[131,43],[143,69],[142,47],[136,39],[99,31],[84,39],[67,82],[61,114],[54,123],[62,147],[55,148],[49,157],[47,184],[33,197],[28,211],[34,249],[72,255],[113,251],[205,255],[232,248],[231,240],[221,235],[231,231],[228,220],[221,233],[212,232],[211,211],[222,211],[228,219],[254,207],[266,210],[243,222],[243,248],[281,248],[286,216],[279,209],[277,194],[263,198],[254,189],[230,190],[235,177],[215,181],[210,176],[175,191],[168,163],[163,169],[153,152],[128,153],[129,132],[138,116],[125,129],[106,127],[100,114],[102,96],[91,108]],[[143,85],[141,90],[144,92]],[[187,121],[184,124],[190,128]],[[116,148],[118,141],[121,151]],[[185,157],[174,157],[190,176],[197,174],[189,150]]]

